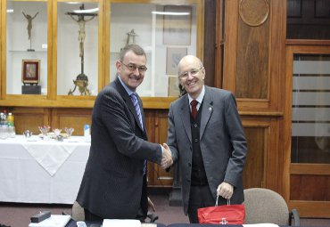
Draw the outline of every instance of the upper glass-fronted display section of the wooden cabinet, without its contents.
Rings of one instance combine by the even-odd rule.
[[[136,42],[144,48],[148,68],[137,93],[145,98],[144,108],[167,109],[169,102],[177,98],[168,97],[169,76],[173,76],[167,71],[169,49],[186,48],[186,53],[202,56],[199,51],[202,50],[199,35],[202,34],[202,0],[175,3],[158,0],[0,0],[0,3],[0,105],[92,108],[97,93],[115,78],[115,61],[120,49],[127,45],[128,33],[135,29],[137,36],[129,42]],[[92,20],[88,20],[91,14],[86,14],[85,20],[88,21],[84,27],[83,73],[87,75],[90,93],[81,95],[77,87],[75,93],[69,95],[75,86],[73,81],[82,73],[78,41],[81,27],[77,21],[78,14],[75,14],[82,6],[85,9],[98,8],[97,16]],[[173,7],[190,12],[185,19],[189,32],[181,32],[185,36],[189,34],[186,36],[188,44],[166,43],[164,38],[169,41],[169,36],[165,37],[165,33],[170,26],[176,25],[173,23],[176,18],[152,13],[166,12]],[[29,52],[28,49],[34,51]],[[24,76],[22,61],[29,60],[40,62],[40,94],[22,94],[21,91]]]

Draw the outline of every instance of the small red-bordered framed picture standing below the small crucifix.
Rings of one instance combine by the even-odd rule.
[[[21,82],[23,84],[39,84],[40,60],[21,61]]]

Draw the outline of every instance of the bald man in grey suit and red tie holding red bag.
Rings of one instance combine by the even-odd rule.
[[[181,169],[184,212],[198,223],[197,209],[243,203],[247,144],[232,93],[204,85],[202,61],[187,55],[177,66],[186,94],[169,109],[168,145]]]

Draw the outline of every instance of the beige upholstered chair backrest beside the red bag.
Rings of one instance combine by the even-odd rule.
[[[244,190],[244,223],[289,224],[289,209],[276,191],[261,188]]]

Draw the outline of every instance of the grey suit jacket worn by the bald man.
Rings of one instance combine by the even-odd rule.
[[[235,187],[233,197],[230,199],[231,203],[242,203],[242,172],[247,144],[232,93],[205,85],[200,144],[205,172],[214,201],[219,184],[225,181]],[[193,155],[187,94],[170,105],[168,145],[174,161],[178,159],[182,179],[183,205],[185,214],[187,214]],[[227,200],[219,199],[219,204],[227,204]]]

